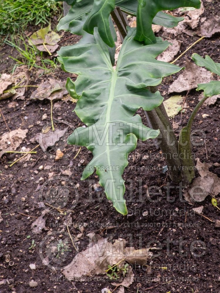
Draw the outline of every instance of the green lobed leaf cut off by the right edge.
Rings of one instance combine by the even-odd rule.
[[[192,54],[192,59],[196,65],[205,67],[207,70],[220,76],[220,63],[215,63],[211,57],[202,58],[198,54]],[[220,81],[212,80],[208,84],[198,84],[197,91],[203,90],[205,97],[216,96],[220,94]]]

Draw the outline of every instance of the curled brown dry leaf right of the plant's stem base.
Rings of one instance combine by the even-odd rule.
[[[184,193],[185,199],[191,205],[194,202],[202,202],[207,195],[216,196],[220,193],[220,178],[209,171],[209,165],[197,159],[196,168],[200,177],[195,178],[191,188]]]

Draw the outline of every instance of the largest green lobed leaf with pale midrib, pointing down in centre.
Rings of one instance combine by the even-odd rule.
[[[155,59],[169,42],[158,38],[156,44],[144,46],[133,39],[135,33],[136,29],[128,28],[116,69],[97,28],[94,35],[84,32],[77,44],[58,52],[62,68],[78,74],[75,82],[68,79],[67,90],[79,98],[75,112],[88,126],[77,128],[68,139],[70,144],[86,146],[93,153],[82,179],[96,169],[107,198],[121,214],[127,213],[122,174],[128,154],[136,148],[137,139],[159,134],[143,125],[135,113],[138,108],[152,110],[163,100],[159,91],[151,93],[147,86],[156,86],[163,76],[180,71],[173,64]]]

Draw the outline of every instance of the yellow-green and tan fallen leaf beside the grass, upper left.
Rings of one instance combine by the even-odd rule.
[[[41,28],[31,35],[28,40],[29,45],[35,45],[39,51],[55,52],[59,47],[57,43],[60,41],[60,36],[51,31],[50,24],[46,28]]]

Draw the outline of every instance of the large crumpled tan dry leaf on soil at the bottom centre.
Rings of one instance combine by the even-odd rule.
[[[117,239],[114,244],[96,235],[92,238],[86,250],[78,253],[70,265],[64,268],[63,274],[68,280],[83,280],[85,276],[103,275],[108,265],[125,262],[140,265],[145,264],[152,256],[149,249],[135,250],[133,247],[124,248],[126,241]]]

